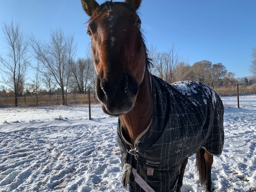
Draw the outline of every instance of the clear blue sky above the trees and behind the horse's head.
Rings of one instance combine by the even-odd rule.
[[[104,0],[98,0],[103,3]],[[147,46],[175,49],[189,64],[221,62],[236,77],[251,75],[252,47],[256,46],[256,0],[143,0],[138,10]],[[18,21],[26,34],[49,39],[50,29],[74,33],[78,57],[90,44],[89,17],[80,0],[2,0],[2,21]],[[0,54],[4,43],[0,30]]]

